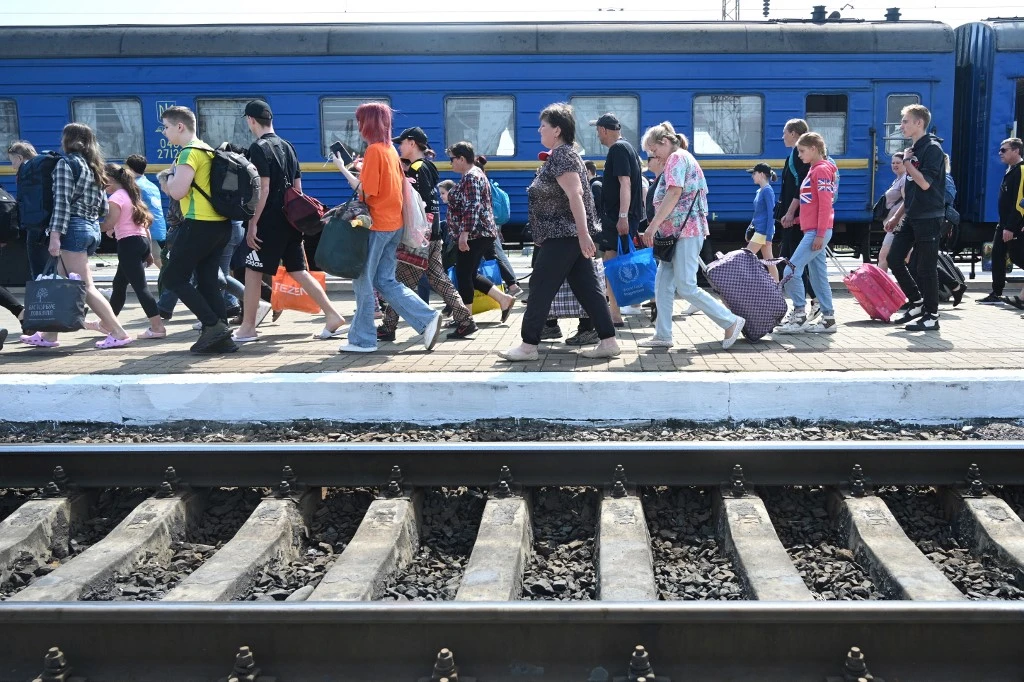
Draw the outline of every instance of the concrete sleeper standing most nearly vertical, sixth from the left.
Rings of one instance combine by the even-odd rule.
[[[657,599],[650,534],[638,497],[601,498],[597,526],[597,596],[602,601]]]

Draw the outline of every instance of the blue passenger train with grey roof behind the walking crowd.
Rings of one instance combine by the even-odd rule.
[[[598,166],[606,150],[587,122],[605,112],[637,146],[660,121],[685,132],[708,178],[712,244],[741,241],[754,197],[744,170],[759,161],[781,169],[782,128],[806,119],[841,174],[836,241],[865,253],[881,239],[868,227],[893,179],[889,157],[907,144],[904,105],[932,111],[959,187],[961,246],[972,255],[997,219],[996,146],[1024,128],[1021,18],[955,31],[889,12],[878,22],[23,27],[5,38],[4,143],[56,148],[63,124],[80,121],[106,158],[144,154],[157,171],[176,154],[161,134],[164,109],[193,109],[210,143],[248,145],[242,111],[260,97],[299,154],[303,188],[337,204],[347,187],[328,148],[359,148],[355,106],[383,100],[396,111],[396,132],[427,132],[442,176],[453,142],[487,156],[511,198],[513,240],[541,163],[538,114],[554,101],[574,106],[581,153]],[[0,183],[13,189],[5,158]]]

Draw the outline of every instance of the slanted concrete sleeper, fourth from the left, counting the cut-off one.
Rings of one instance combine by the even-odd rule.
[[[369,601],[388,579],[409,565],[420,545],[422,495],[376,500],[359,528],[308,601]]]

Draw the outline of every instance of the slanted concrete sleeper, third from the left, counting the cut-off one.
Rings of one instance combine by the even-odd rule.
[[[241,597],[274,559],[291,560],[302,549],[306,520],[321,488],[293,500],[264,500],[234,537],[163,601],[230,601]]]

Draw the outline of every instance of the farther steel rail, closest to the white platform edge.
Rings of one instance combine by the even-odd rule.
[[[687,441],[175,443],[0,445],[0,487],[45,485],[63,468],[84,487],[159,485],[166,467],[195,486],[273,485],[284,466],[310,485],[487,485],[502,466],[524,485],[717,485],[739,464],[750,484],[839,484],[859,464],[871,484],[952,485],[971,464],[986,483],[1024,482],[1021,441]]]

